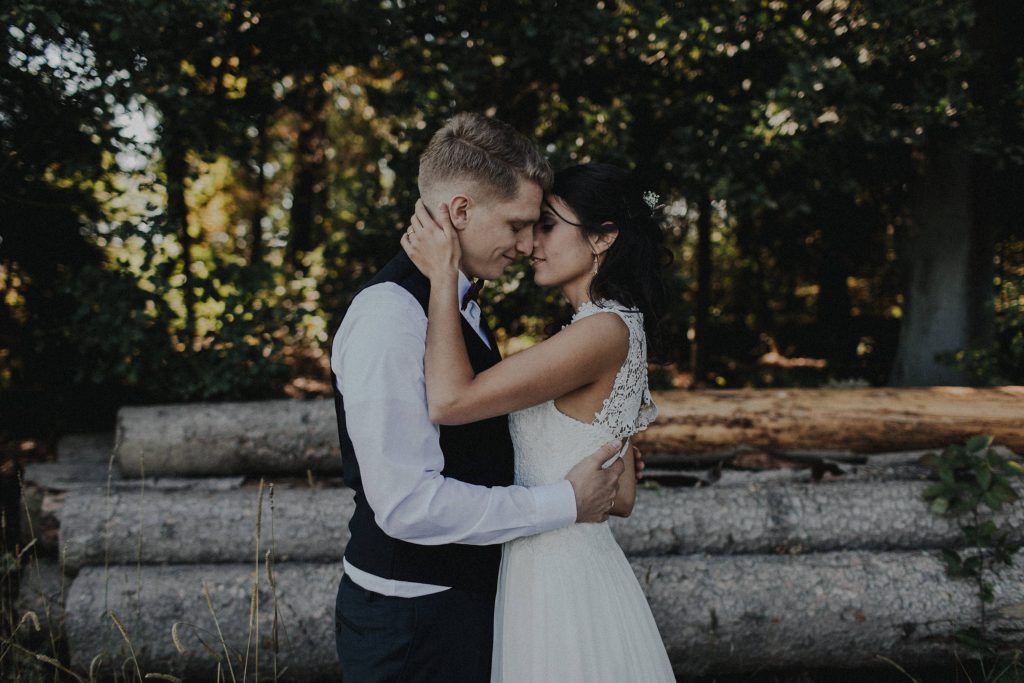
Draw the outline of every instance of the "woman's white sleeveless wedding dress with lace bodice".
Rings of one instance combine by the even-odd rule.
[[[590,424],[553,400],[513,413],[515,482],[560,481],[611,438],[647,427],[657,415],[647,387],[643,315],[613,301],[585,303],[574,324],[617,314],[630,344],[604,405]],[[492,681],[614,683],[676,680],[650,607],[607,522],[506,543],[495,604]]]

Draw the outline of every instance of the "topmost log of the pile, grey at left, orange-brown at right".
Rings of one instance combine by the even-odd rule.
[[[1024,452],[1024,387],[667,391],[636,438],[645,451],[767,450],[881,453],[941,447],[992,434]],[[273,400],[124,408],[118,463],[126,476],[336,473],[332,401]]]

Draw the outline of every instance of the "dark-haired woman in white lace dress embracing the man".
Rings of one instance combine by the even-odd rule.
[[[560,480],[608,440],[654,419],[648,348],[665,306],[656,197],[614,166],[555,174],[534,228],[534,280],[558,287],[575,314],[561,332],[473,374],[460,332],[460,249],[440,207],[417,205],[402,241],[430,279],[425,376],[430,416],[463,424],[511,414],[515,483]],[[635,464],[611,514],[636,499]],[[495,607],[492,680],[675,681],[657,627],[608,524],[575,524],[505,544]]]

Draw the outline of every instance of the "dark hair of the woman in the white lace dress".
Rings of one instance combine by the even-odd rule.
[[[629,171],[610,164],[562,169],[555,173],[551,194],[579,217],[577,223],[560,216],[584,238],[618,230],[590,283],[590,298],[614,299],[643,313],[647,355],[662,361],[667,351],[663,323],[668,305],[663,273],[673,258],[665,246],[660,210],[647,205],[643,189]]]

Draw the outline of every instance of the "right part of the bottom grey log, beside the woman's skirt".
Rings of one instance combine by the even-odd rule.
[[[977,586],[935,551],[633,560],[677,673],[953,661],[981,625]],[[993,580],[986,633],[1024,645],[1024,568]],[[961,653],[963,658],[965,653]]]

